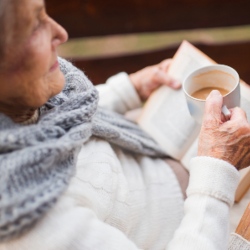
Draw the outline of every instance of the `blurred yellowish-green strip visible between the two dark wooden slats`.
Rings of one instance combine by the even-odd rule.
[[[180,44],[184,39],[191,43],[201,41],[204,43],[250,41],[250,25],[133,35],[112,35],[97,38],[76,38],[70,39],[67,43],[59,47],[59,53],[62,57],[121,55],[173,46]]]

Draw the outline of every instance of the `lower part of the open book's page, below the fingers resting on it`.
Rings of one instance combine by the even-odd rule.
[[[200,125],[190,116],[182,90],[162,87],[150,99],[138,124],[167,154],[180,160],[197,137]]]

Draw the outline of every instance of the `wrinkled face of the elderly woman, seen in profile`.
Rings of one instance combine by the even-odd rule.
[[[64,87],[57,47],[67,40],[67,33],[47,15],[43,0],[4,1],[8,15],[0,107],[38,108]]]

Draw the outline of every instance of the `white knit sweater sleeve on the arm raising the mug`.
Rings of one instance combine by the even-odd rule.
[[[185,215],[168,250],[225,250],[229,239],[229,208],[239,181],[229,163],[195,157],[191,161]]]

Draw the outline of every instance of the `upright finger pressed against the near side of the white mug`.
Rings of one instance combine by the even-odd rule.
[[[206,99],[204,117],[209,120],[221,121],[223,98],[218,90],[213,90]]]

